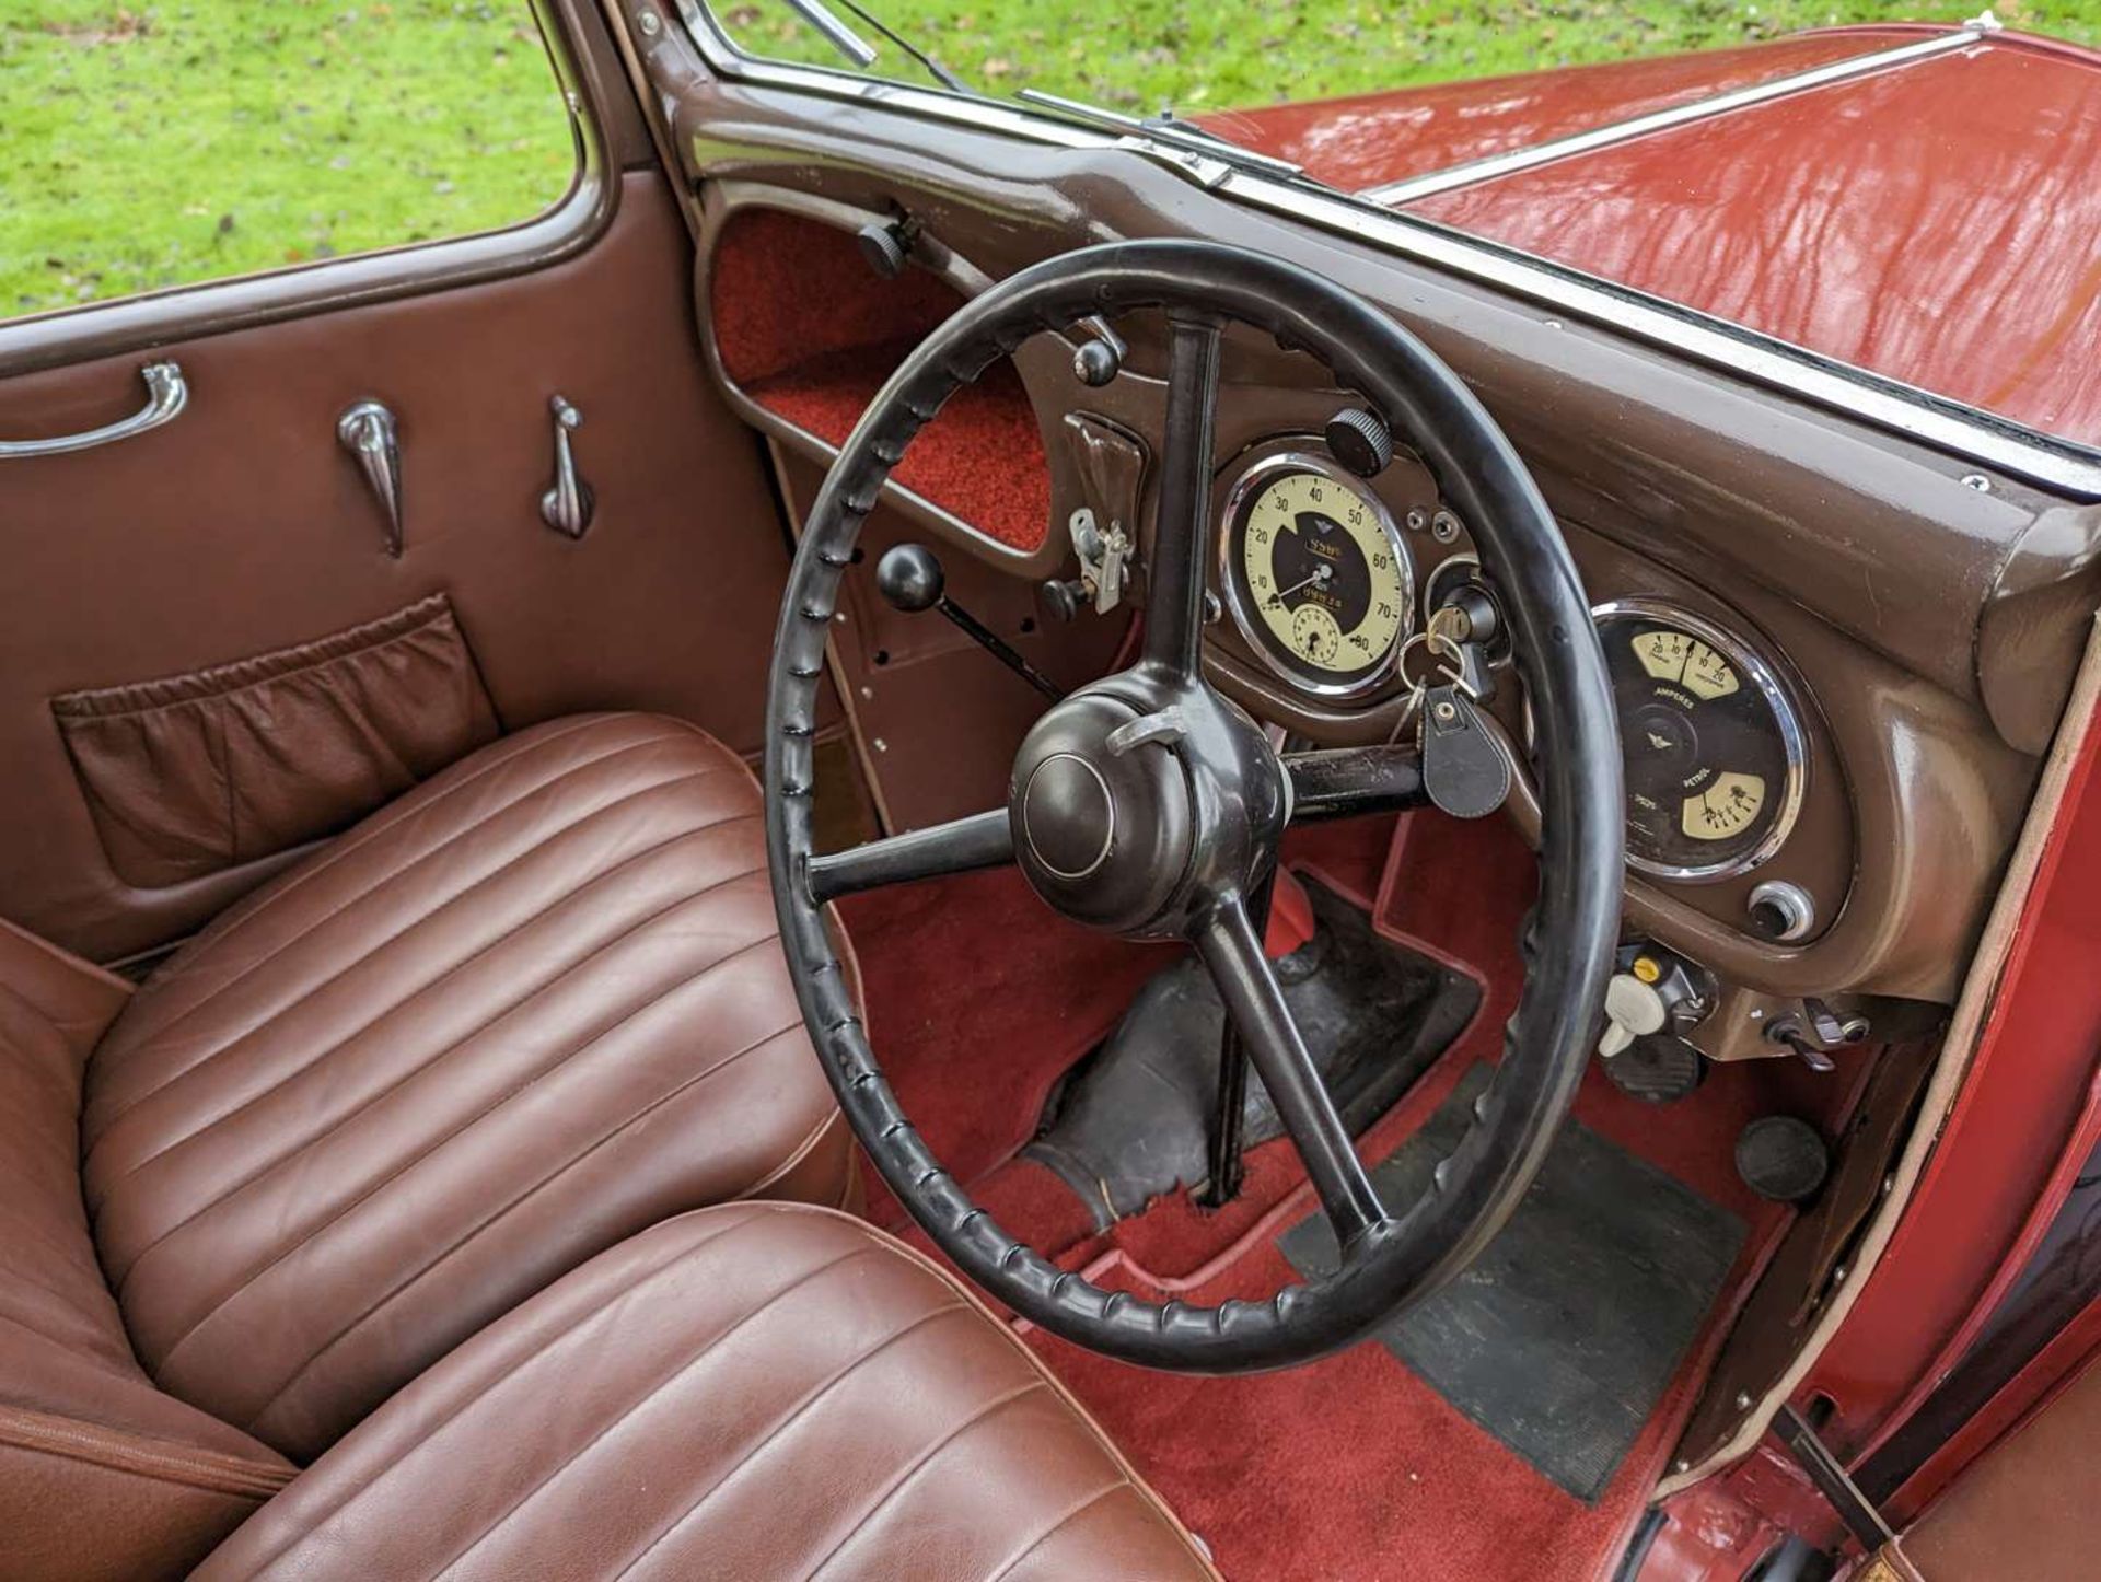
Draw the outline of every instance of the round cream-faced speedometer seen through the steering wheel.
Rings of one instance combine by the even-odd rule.
[[[1221,540],[1233,622],[1271,670],[1324,695],[1389,672],[1414,576],[1370,490],[1313,456],[1271,456],[1233,483]]]

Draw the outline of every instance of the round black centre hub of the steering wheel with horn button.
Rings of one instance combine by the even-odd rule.
[[[1166,937],[1252,866],[1254,838],[1275,838],[1286,790],[1261,729],[1225,700],[1145,702],[1086,689],[1038,719],[1015,756],[1008,819],[1021,872],[1057,912]]]

